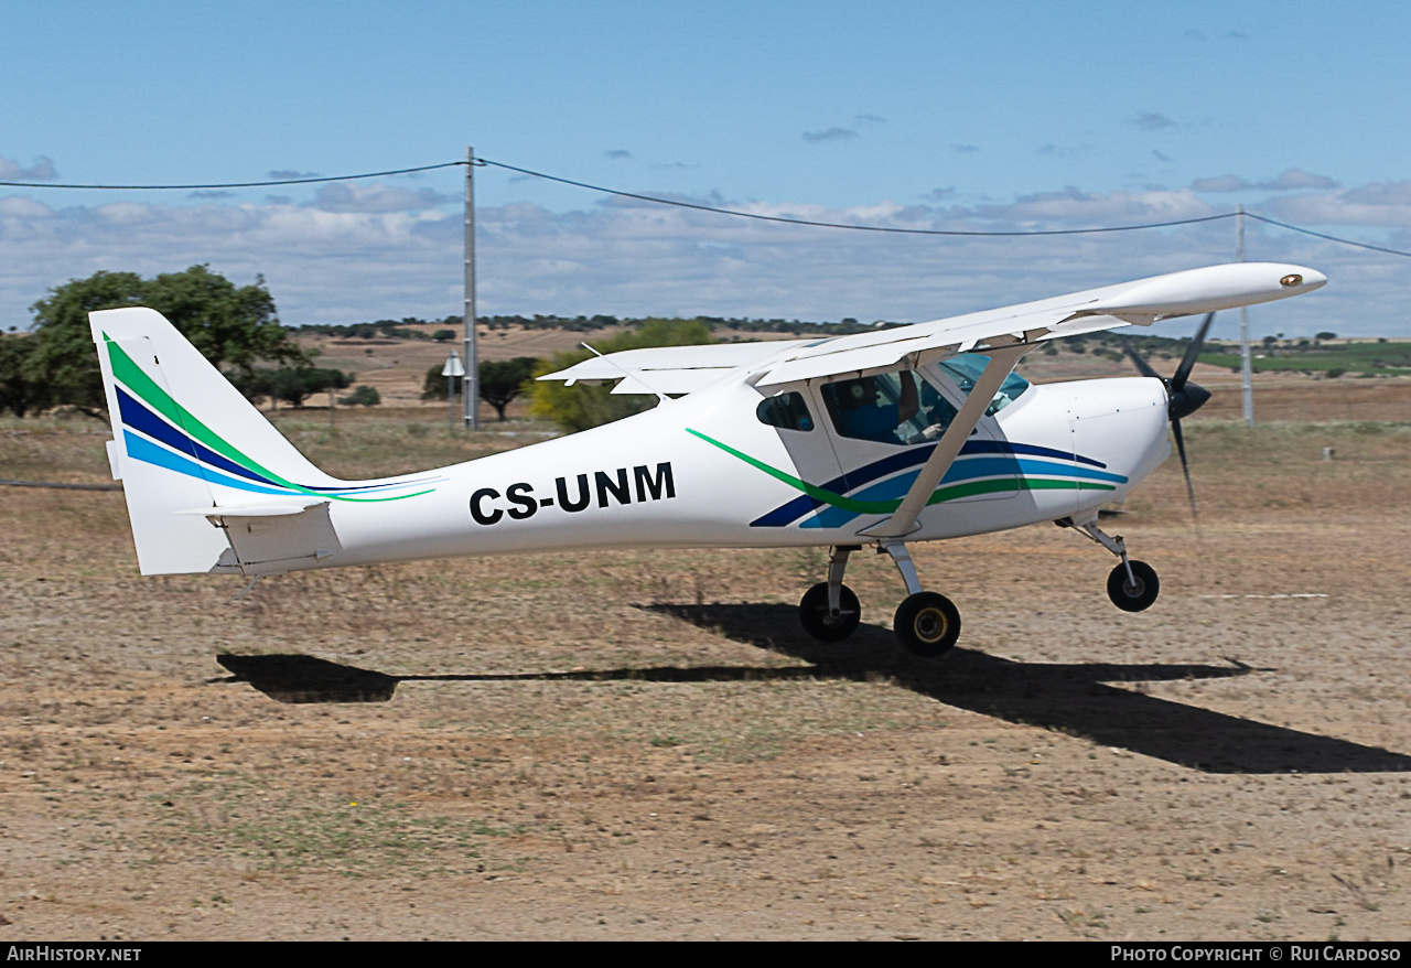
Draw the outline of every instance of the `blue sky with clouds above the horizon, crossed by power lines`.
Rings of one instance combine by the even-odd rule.
[[[1411,250],[1391,3],[63,3],[0,32],[0,179],[481,157],[763,214],[1068,229],[1233,210]],[[459,168],[231,192],[0,188],[0,326],[69,278],[264,274],[286,323],[460,312]],[[477,169],[481,313],[919,320],[1235,255],[1232,222],[952,240]],[[1257,332],[1411,334],[1411,260],[1252,223],[1329,286]],[[1180,327],[1181,323],[1174,323]],[[1233,319],[1222,320],[1232,332]]]

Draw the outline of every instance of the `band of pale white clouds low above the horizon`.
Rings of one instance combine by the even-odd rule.
[[[51,207],[32,198],[0,198],[0,327],[27,325],[27,308],[71,278],[99,270],[154,275],[198,262],[241,282],[264,274],[289,323],[459,312],[460,212],[395,207],[381,190],[354,196],[361,207],[288,200]],[[1340,206],[1332,213],[1340,219],[1349,210],[1374,210],[1376,224],[1411,227],[1411,182],[1277,202],[1301,199]],[[690,200],[766,216],[952,230],[1091,227],[1215,212],[1189,189],[1065,189],[986,206],[948,205],[948,195],[920,205],[882,199],[841,209],[714,195]],[[1273,205],[1261,210],[1314,223]],[[787,226],[612,199],[571,212],[525,202],[487,206],[477,212],[477,224],[478,296],[487,315],[919,320],[1235,257],[1228,222],[1101,236],[961,238]],[[1367,268],[1380,265],[1369,258],[1391,257],[1259,223],[1250,223],[1249,243],[1252,260],[1314,265],[1333,279],[1325,294],[1256,310],[1256,329],[1267,319],[1271,330],[1288,333],[1401,332],[1400,265],[1381,275]],[[1349,278],[1357,284],[1348,285]]]

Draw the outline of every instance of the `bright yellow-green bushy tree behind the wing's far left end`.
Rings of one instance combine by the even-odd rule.
[[[710,327],[698,319],[649,319],[639,329],[618,333],[597,344],[600,353],[638,350],[649,346],[696,346],[711,343]],[[581,363],[591,356],[587,350],[556,353],[549,357],[536,375],[556,373]],[[612,397],[611,387],[586,387],[583,384],[564,387],[557,381],[533,384],[531,411],[545,416],[570,433],[587,430],[600,423],[621,421],[639,413],[652,401],[636,395]]]

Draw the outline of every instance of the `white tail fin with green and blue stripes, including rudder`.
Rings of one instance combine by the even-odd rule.
[[[364,488],[310,464],[157,310],[106,309],[89,323],[143,574],[258,574],[336,553],[332,492]],[[260,545],[271,518],[278,539]]]

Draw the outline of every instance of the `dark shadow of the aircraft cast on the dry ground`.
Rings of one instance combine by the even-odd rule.
[[[539,673],[389,676],[302,655],[220,655],[231,679],[281,703],[385,703],[402,682],[786,682],[883,679],[938,703],[1054,730],[1208,773],[1411,772],[1411,756],[1147,696],[1110,683],[1226,679],[1243,665],[1033,663],[955,648],[944,659],[907,655],[882,628],[841,643],[799,629],[790,605],[642,605],[809,666],[629,667]]]

